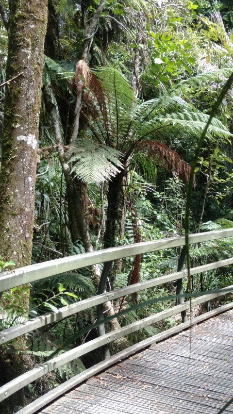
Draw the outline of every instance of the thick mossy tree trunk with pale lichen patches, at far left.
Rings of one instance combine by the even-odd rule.
[[[1,3],[1,2],[0,2]],[[2,4],[1,9],[3,7]],[[37,140],[41,101],[44,40],[48,0],[9,1],[9,20],[4,21],[8,35],[8,58],[2,159],[0,171],[0,255],[13,259],[17,267],[31,263],[34,187],[37,164]],[[2,14],[1,14],[2,16]],[[8,15],[7,15],[8,16]],[[29,291],[24,289],[21,307],[28,311]],[[26,348],[25,338],[17,349]],[[24,370],[21,353],[8,355],[9,364],[1,364],[1,381],[11,380]],[[6,349],[2,349],[2,358]],[[6,366],[8,365],[8,366]],[[4,375],[4,372],[7,373]],[[7,377],[7,378],[4,378]],[[3,412],[10,412],[12,400],[6,400]],[[25,403],[22,392],[14,405]]]

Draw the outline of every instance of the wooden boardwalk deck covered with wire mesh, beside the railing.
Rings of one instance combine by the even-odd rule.
[[[233,311],[109,368],[43,414],[215,414],[233,396]],[[233,413],[233,405],[226,413]]]

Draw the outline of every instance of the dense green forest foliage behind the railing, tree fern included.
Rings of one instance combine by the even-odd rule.
[[[7,10],[7,2],[0,1],[2,83]],[[233,72],[232,28],[233,9],[227,0],[49,0],[32,263],[184,233],[190,165],[219,91]],[[10,53],[10,44],[8,48]],[[8,85],[1,86],[0,120],[5,116],[5,88]],[[230,91],[200,152],[190,232],[233,226],[232,108]],[[12,268],[15,258],[0,253],[0,270]],[[180,253],[176,248],[117,261],[106,289],[169,273],[177,269]],[[230,257],[232,240],[200,244],[190,256],[193,265]],[[59,282],[53,278],[35,282],[27,302],[21,298],[28,296],[28,286],[4,292],[0,327],[27,319],[28,313],[57,312],[94,295],[101,268],[64,273]],[[193,278],[192,289],[204,291],[229,282],[230,270],[218,269]],[[129,310],[119,321],[125,325],[170,306],[166,297],[175,291],[175,285],[149,289],[117,301],[112,312],[164,296],[164,302],[146,310]],[[54,323],[50,330],[30,334],[28,363],[44,361],[61,338],[95,318],[94,310],[83,312]],[[174,323],[170,319],[165,325]],[[129,342],[162,329],[164,325],[157,324],[132,334]],[[79,343],[97,334],[93,330]],[[8,344],[3,356],[16,350],[20,351],[18,344]],[[35,383],[28,394],[45,392],[98,358],[95,354],[67,364],[42,384]]]

